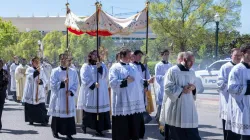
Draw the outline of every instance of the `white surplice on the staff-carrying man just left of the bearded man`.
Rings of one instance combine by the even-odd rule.
[[[50,77],[51,97],[48,109],[48,115],[60,118],[74,117],[75,112],[75,97],[68,96],[68,114],[66,112],[66,85],[65,88],[60,88],[61,82],[66,79],[66,70],[61,67],[54,68]],[[68,90],[74,95],[78,86],[78,75],[75,70],[68,69]]]

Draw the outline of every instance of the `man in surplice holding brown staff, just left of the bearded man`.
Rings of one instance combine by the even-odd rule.
[[[67,54],[60,54],[61,64],[51,73],[51,99],[48,115],[52,116],[51,129],[54,138],[59,138],[58,133],[60,133],[71,140],[72,135],[76,134],[74,96],[77,91],[78,76],[75,70],[67,68],[69,66],[67,57]]]

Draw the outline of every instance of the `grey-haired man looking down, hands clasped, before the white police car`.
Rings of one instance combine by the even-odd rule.
[[[170,132],[171,139],[201,139],[195,97],[203,88],[198,86],[200,83],[194,71],[190,70],[194,62],[193,54],[185,52],[183,62],[171,67],[165,76],[164,89],[168,97],[165,103],[165,122],[173,131]]]

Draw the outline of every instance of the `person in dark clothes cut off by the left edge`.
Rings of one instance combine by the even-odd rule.
[[[3,60],[0,59],[0,130],[2,129],[2,112],[6,98],[6,89],[8,85],[8,72],[3,69]]]

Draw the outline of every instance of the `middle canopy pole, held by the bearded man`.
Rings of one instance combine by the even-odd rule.
[[[97,62],[100,62],[99,58],[99,12],[100,12],[100,3],[97,1],[96,5],[96,50],[97,50]],[[99,83],[98,70],[96,68],[96,82]],[[99,88],[96,89],[97,99],[96,99],[96,120],[99,121]]]

